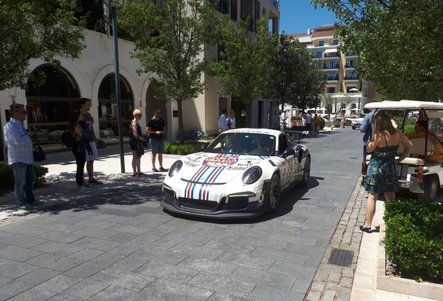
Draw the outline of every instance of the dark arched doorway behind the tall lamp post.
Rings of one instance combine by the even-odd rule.
[[[121,114],[123,136],[130,134],[130,122],[134,111],[134,94],[127,80],[120,76]],[[100,137],[118,136],[116,79],[110,73],[102,80],[98,89],[98,116],[100,118]]]

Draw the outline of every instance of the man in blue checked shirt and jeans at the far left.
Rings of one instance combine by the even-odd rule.
[[[33,193],[36,174],[33,169],[33,145],[31,137],[34,132],[27,132],[23,121],[26,119],[24,105],[10,105],[10,121],[3,128],[8,146],[8,164],[14,171],[14,193],[17,205],[22,210],[33,210],[33,206],[42,202],[36,201]]]

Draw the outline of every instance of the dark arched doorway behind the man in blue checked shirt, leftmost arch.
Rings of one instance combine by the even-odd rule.
[[[28,125],[38,128],[42,144],[59,142],[71,112],[79,107],[77,83],[68,71],[52,65],[41,65],[32,75],[26,86]]]

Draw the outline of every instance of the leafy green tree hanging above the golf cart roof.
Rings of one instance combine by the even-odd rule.
[[[345,25],[336,34],[359,54],[357,72],[383,98],[437,101],[443,96],[443,1],[311,0]]]

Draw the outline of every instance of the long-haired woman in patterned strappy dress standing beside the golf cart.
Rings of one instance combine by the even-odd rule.
[[[392,125],[387,111],[375,112],[371,123],[373,137],[366,146],[368,153],[373,153],[368,164],[364,189],[368,192],[366,203],[366,219],[360,230],[371,233],[371,224],[375,215],[375,202],[378,194],[383,193],[384,199],[390,201],[396,197],[400,189],[397,177],[396,163],[401,162],[412,151],[412,143],[405,134],[396,130]],[[396,160],[398,146],[403,145],[404,150]]]

